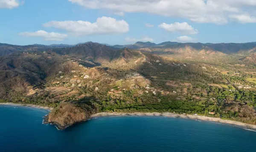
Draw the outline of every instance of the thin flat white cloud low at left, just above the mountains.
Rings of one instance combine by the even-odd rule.
[[[63,41],[67,37],[67,34],[59,34],[54,32],[48,33],[43,30],[36,32],[23,32],[19,35],[23,37],[42,37],[46,41]]]

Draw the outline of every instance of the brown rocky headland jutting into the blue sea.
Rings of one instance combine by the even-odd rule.
[[[86,104],[62,102],[49,113],[45,118],[45,123],[53,124],[58,129],[66,129],[73,124],[86,121],[93,113],[95,113],[94,110]]]

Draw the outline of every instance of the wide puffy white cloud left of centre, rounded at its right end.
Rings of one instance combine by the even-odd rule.
[[[51,21],[44,27],[54,27],[76,35],[96,34],[122,34],[129,31],[129,25],[125,20],[116,20],[111,17],[99,17],[95,23],[87,21]]]

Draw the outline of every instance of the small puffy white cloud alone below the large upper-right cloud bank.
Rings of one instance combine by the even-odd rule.
[[[198,30],[192,28],[192,26],[186,22],[183,22],[183,23],[176,22],[173,24],[162,23],[159,25],[159,27],[169,32],[180,32],[183,34],[198,34]]]

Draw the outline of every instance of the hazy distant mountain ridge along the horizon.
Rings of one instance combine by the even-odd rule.
[[[14,53],[16,51],[47,51],[52,49],[74,50],[69,48],[76,48],[76,46],[89,44],[93,42],[78,43],[76,45],[67,44],[52,44],[52,45],[10,45],[6,43],[0,43],[0,56],[6,56],[8,54]],[[96,43],[95,43],[96,44]],[[100,43],[97,43],[100,44]],[[251,51],[256,48],[256,42],[247,43],[180,43],[180,42],[162,42],[159,44],[152,42],[136,42],[130,45],[108,45],[100,44],[111,48],[112,50],[118,50],[121,48],[137,49],[141,51],[151,52],[155,54],[174,54],[174,53],[206,53],[206,54],[233,54]],[[75,53],[76,54],[76,53]],[[79,54],[79,53],[78,53]],[[81,52],[80,52],[80,55]]]

